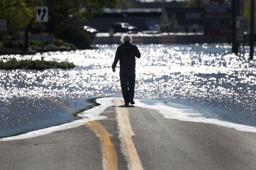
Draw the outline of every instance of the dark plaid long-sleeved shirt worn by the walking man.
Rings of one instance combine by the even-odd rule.
[[[116,56],[112,69],[116,68],[118,60],[120,60],[120,70],[122,71],[135,71],[136,60],[135,57],[140,58],[140,52],[136,45],[125,42],[118,46]]]

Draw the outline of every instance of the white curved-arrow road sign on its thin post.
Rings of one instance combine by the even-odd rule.
[[[41,23],[41,61],[43,60],[42,52],[43,52],[43,25],[42,23],[48,22],[48,7],[43,6],[43,2],[41,2],[41,6],[36,8],[36,21]]]

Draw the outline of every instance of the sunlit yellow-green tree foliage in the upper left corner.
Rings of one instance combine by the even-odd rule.
[[[6,19],[8,33],[31,24],[39,0],[0,0],[0,17]]]

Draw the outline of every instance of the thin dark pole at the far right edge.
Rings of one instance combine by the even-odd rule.
[[[250,59],[253,59],[253,38],[254,38],[254,0],[251,0],[251,27],[250,27]]]

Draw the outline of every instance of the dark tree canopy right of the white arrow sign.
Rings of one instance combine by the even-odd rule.
[[[57,33],[68,25],[77,25],[87,18],[113,8],[120,0],[45,0],[49,8],[47,30]]]

